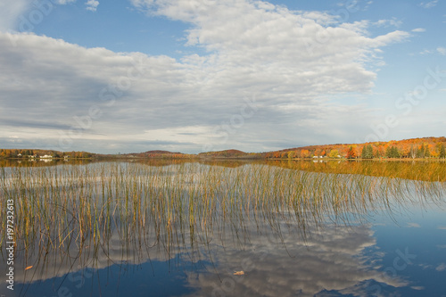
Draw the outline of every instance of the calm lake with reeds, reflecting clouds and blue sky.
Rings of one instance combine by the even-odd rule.
[[[445,162],[1,166],[2,296],[446,296]]]

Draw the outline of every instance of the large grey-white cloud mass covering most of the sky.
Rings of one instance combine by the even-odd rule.
[[[149,15],[189,23],[186,45],[206,54],[176,60],[3,34],[2,119],[51,119],[73,128],[82,128],[75,117],[84,119],[91,127],[74,133],[72,149],[87,149],[78,147],[87,141],[96,152],[116,153],[108,151],[116,147],[125,151],[131,139],[177,141],[178,146],[161,148],[191,153],[200,152],[206,143],[214,149],[278,149],[308,144],[320,133],[327,143],[349,142],[351,131],[333,136],[332,128],[351,127],[355,121],[359,124],[354,129],[361,133],[368,110],[361,103],[333,104],[328,98],[368,94],[376,78],[373,68],[382,62],[380,48],[409,37],[398,30],[370,37],[367,21],[336,25],[335,17],[324,12],[292,12],[260,1],[132,3]],[[144,72],[128,80],[135,63]],[[116,97],[112,106],[101,99],[104,88],[112,93],[106,95]],[[255,112],[244,117],[244,98],[254,95]],[[101,116],[90,123],[85,117],[92,106],[99,107]],[[328,123],[330,118],[334,122]],[[38,127],[3,128],[6,137],[44,136]],[[195,132],[186,136],[185,128]],[[61,133],[70,131],[52,132],[46,140],[57,149]]]

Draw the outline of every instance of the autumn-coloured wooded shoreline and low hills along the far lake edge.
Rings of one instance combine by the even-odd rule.
[[[148,151],[145,153],[98,154],[87,152],[59,152],[39,149],[0,149],[0,159],[445,159],[446,137],[423,137],[366,144],[310,145],[266,153],[244,153],[224,150],[198,154]]]

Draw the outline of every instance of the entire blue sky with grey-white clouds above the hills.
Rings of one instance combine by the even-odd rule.
[[[0,147],[444,136],[442,1],[0,0]]]

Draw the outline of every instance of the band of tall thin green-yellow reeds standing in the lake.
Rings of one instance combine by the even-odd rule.
[[[156,247],[169,254],[178,246],[218,241],[218,234],[228,230],[243,234],[252,222],[280,230],[285,221],[305,233],[307,226],[327,219],[345,223],[408,203],[440,205],[445,191],[442,178],[432,182],[260,164],[104,162],[0,169],[0,209],[8,199],[14,201],[16,243],[24,259],[30,253],[44,258],[54,253],[91,260],[112,248],[144,252]],[[1,224],[5,230],[4,216]],[[118,247],[111,246],[115,233]]]

